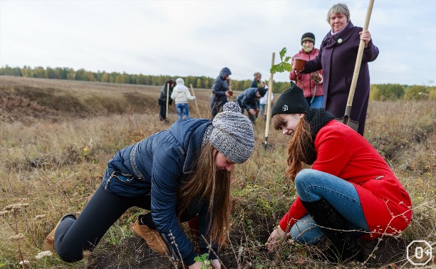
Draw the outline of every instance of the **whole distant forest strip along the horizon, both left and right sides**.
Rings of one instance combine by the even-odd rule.
[[[125,83],[137,85],[164,85],[165,81],[183,78],[185,85],[192,84],[194,88],[210,89],[215,78],[205,76],[188,75],[135,75],[128,73],[107,73],[105,71],[91,72],[85,69],[74,70],[73,68],[43,68],[41,66],[0,67],[0,75],[12,75],[25,78],[51,78],[59,80],[83,80],[103,83]],[[232,80],[233,90],[245,90],[249,88],[252,80]],[[266,81],[268,83],[268,81]],[[273,81],[274,93],[283,93],[289,88],[287,82]],[[436,87],[427,85],[399,85],[399,84],[373,84],[370,89],[370,100],[436,100]]]

